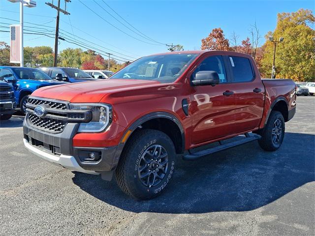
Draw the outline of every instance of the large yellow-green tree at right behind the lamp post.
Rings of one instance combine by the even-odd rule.
[[[265,77],[271,77],[274,44],[268,40],[284,37],[277,44],[276,77],[290,78],[298,81],[315,79],[315,30],[310,25],[315,23],[311,10],[300,9],[292,13],[279,13],[274,32],[265,36],[264,55],[261,60],[261,71]]]

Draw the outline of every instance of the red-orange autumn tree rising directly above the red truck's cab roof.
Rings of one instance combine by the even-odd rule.
[[[213,29],[208,37],[201,39],[201,50],[228,51],[229,48],[229,41],[221,28]]]

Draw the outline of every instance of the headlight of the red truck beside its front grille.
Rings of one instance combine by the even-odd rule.
[[[92,120],[89,123],[80,123],[78,132],[97,133],[102,132],[112,121],[112,107],[102,103],[70,103],[71,110],[90,110]]]

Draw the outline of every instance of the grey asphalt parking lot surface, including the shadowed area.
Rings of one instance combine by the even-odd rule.
[[[22,122],[0,124],[0,235],[315,234],[315,97],[298,97],[278,151],[252,142],[179,159],[167,191],[151,201],[35,157]]]

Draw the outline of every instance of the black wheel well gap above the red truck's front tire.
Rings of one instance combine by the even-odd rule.
[[[133,132],[139,129],[156,129],[170,137],[173,141],[176,153],[183,153],[184,140],[178,125],[168,118],[153,118],[139,125]],[[131,135],[132,136],[132,135]]]

